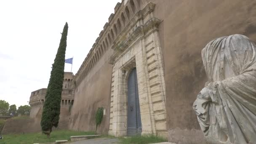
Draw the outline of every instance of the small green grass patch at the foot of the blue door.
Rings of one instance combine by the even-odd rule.
[[[158,142],[167,142],[168,140],[155,135],[132,136],[127,138],[119,138],[121,144],[151,144]]]

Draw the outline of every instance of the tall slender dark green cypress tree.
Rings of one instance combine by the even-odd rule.
[[[41,128],[43,133],[47,134],[47,136],[50,136],[53,126],[57,127],[59,123],[65,53],[67,47],[67,30],[68,24],[66,22],[61,34],[59,48],[54,63],[52,64],[51,77],[47,87],[45,103],[43,105]]]

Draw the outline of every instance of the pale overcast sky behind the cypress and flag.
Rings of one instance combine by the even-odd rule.
[[[121,0],[0,0],[0,100],[28,104],[46,88],[65,22],[74,74]],[[71,64],[65,64],[70,72]]]

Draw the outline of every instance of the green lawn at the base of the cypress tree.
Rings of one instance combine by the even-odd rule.
[[[53,131],[51,138],[47,138],[42,133],[27,133],[27,134],[10,134],[3,135],[3,139],[0,139],[0,144],[33,144],[33,143],[47,143],[55,142],[56,140],[69,140],[70,136],[80,135],[93,135],[94,132],[84,131]]]

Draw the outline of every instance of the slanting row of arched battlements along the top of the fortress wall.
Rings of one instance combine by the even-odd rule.
[[[108,22],[104,25],[99,37],[97,37],[83,64],[77,71],[75,80],[71,84],[72,87],[79,85],[104,53],[109,48],[112,48],[116,37],[122,33],[133,16],[140,11],[140,5],[141,0],[122,0],[122,3],[117,3],[114,8],[115,13],[110,14]]]

